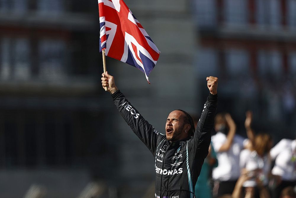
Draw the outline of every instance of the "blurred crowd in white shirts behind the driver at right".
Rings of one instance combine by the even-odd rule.
[[[252,121],[247,111],[244,138],[236,134],[229,113],[216,115],[216,134],[195,186],[197,198],[296,198],[296,140],[274,145],[270,134],[252,129]]]

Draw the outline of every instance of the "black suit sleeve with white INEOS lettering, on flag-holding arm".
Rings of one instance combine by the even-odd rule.
[[[158,140],[163,140],[165,135],[156,131],[119,90],[112,94],[112,99],[126,123],[155,156],[156,144]]]

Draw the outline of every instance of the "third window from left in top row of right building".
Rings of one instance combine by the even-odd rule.
[[[256,20],[259,26],[281,27],[281,5],[278,0],[257,0]]]

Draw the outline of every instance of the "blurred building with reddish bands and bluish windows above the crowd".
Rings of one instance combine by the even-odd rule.
[[[241,131],[251,109],[258,131],[295,138],[295,9],[294,0],[194,0],[197,76],[219,77],[219,111]]]

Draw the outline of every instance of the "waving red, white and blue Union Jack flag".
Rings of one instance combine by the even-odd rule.
[[[160,51],[122,0],[98,0],[100,51],[140,69],[148,76]],[[150,84],[150,83],[149,83]]]

